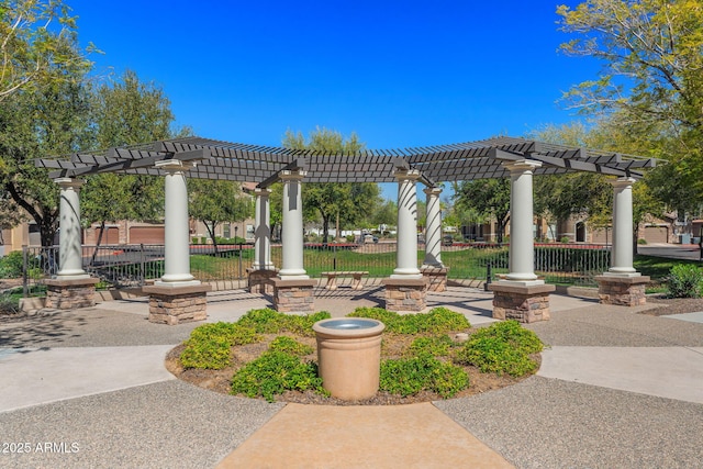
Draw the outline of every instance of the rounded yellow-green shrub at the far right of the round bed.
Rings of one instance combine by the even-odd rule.
[[[482,372],[521,377],[537,369],[537,362],[529,355],[542,351],[543,347],[534,332],[517,321],[504,321],[472,334],[456,359]]]

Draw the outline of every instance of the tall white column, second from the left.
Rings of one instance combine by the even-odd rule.
[[[159,287],[185,287],[200,284],[190,275],[190,246],[188,243],[188,187],[186,171],[193,164],[168,159],[157,161],[156,167],[166,171],[164,217],[164,275],[154,282]]]

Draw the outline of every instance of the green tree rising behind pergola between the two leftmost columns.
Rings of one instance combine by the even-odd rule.
[[[92,90],[93,147],[129,146],[170,138],[174,113],[164,91],[127,70],[119,79]],[[100,245],[108,221],[159,220],[164,212],[164,183],[152,176],[99,174],[87,178],[82,217],[100,223]]]

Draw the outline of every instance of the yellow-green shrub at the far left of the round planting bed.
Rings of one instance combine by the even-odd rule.
[[[260,336],[250,327],[223,322],[203,324],[183,343],[186,348],[180,354],[180,362],[185,368],[220,370],[231,364],[232,346],[257,340]]]

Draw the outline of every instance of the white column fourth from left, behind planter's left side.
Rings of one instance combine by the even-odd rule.
[[[281,171],[283,181],[283,265],[281,280],[309,279],[303,268],[303,199],[301,181],[305,171]]]

